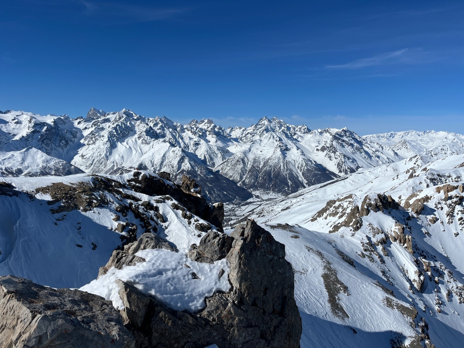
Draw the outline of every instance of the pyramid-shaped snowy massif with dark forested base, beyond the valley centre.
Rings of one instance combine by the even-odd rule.
[[[367,142],[348,129],[293,126],[277,117],[264,117],[247,129],[228,129],[238,142],[232,157],[217,169],[240,186],[269,187],[293,193],[359,168],[372,168],[402,159],[392,148]]]

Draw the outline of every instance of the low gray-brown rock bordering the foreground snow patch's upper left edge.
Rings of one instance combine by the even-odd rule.
[[[134,266],[137,262],[144,262],[144,258],[135,255],[139,250],[145,249],[166,249],[177,252],[177,249],[169,244],[165,239],[152,233],[143,233],[142,236],[135,242],[124,246],[123,250],[115,250],[108,260],[108,263],[100,267],[98,277],[106,274],[111,267],[116,267],[120,270],[123,266]]]

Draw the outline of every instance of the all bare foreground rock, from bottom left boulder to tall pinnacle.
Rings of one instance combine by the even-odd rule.
[[[115,251],[101,271],[123,270],[145,260],[136,254],[163,248],[178,252],[165,240],[144,233]],[[253,220],[230,234],[208,232],[192,245],[189,258],[214,263],[226,259],[227,292],[206,298],[194,313],[175,310],[116,280],[123,307],[80,290],[52,289],[21,277],[0,277],[0,341],[2,347],[179,347],[219,348],[300,346],[301,317],[294,299],[294,275],[285,247]],[[198,282],[194,273],[190,276]],[[98,279],[97,279],[98,282]],[[104,284],[100,284],[104,286]]]

